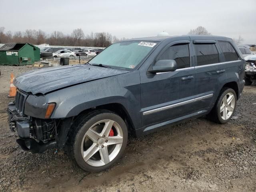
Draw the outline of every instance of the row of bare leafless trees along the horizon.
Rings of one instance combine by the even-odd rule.
[[[123,40],[112,36],[108,32],[91,32],[85,35],[81,28],[74,29],[71,34],[64,34],[60,31],[54,31],[47,34],[42,30],[27,29],[25,31],[11,32],[0,27],[0,43],[8,42],[27,42],[35,45],[50,44],[59,46],[88,46],[88,47],[107,47],[110,44]]]

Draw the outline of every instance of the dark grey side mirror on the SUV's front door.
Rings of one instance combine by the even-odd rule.
[[[160,72],[171,72],[177,69],[177,64],[175,60],[158,60],[150,73],[160,73]]]

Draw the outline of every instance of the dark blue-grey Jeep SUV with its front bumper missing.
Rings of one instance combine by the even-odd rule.
[[[244,87],[244,63],[225,37],[124,40],[86,64],[18,76],[10,129],[24,150],[65,147],[80,168],[101,171],[122,156],[128,133],[143,136],[203,115],[228,122]]]

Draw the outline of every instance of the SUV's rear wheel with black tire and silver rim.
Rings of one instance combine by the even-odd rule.
[[[208,119],[225,124],[230,121],[236,110],[236,92],[231,88],[222,88]]]

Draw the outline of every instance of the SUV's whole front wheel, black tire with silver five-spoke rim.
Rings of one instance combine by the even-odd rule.
[[[128,131],[124,120],[108,110],[80,115],[72,126],[68,153],[83,170],[110,168],[124,154]]]

